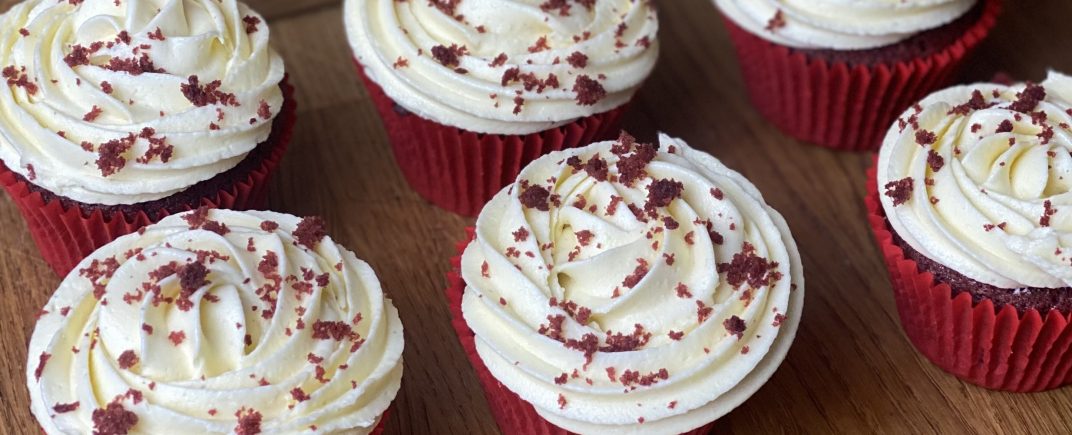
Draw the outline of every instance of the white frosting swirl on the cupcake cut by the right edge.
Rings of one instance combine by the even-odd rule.
[[[1072,286],[1072,77],[927,96],[885,136],[878,186],[912,249],[1000,288]]]

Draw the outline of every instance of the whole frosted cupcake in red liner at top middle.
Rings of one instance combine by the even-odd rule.
[[[470,216],[536,158],[613,138],[659,51],[649,1],[346,0],[344,16],[402,174]]]

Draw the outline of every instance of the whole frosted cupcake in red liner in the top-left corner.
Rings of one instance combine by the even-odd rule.
[[[295,105],[245,4],[27,0],[0,43],[0,184],[60,275],[165,215],[265,207]]]

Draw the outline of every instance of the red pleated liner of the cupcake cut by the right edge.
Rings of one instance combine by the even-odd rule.
[[[890,273],[900,326],[917,349],[954,376],[994,390],[1033,392],[1072,384],[1072,317],[1052,310],[972,303],[909,259],[893,240],[868,171],[867,219]]]

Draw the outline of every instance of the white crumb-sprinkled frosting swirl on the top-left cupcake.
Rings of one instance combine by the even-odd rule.
[[[0,160],[57,195],[160,199],[271,131],[283,61],[234,0],[27,0],[0,17]]]

